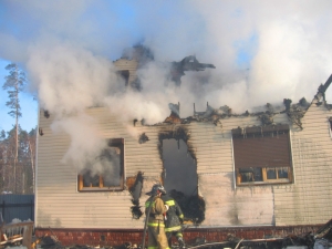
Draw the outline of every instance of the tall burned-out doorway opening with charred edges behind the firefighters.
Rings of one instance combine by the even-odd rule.
[[[205,201],[198,195],[197,165],[187,146],[188,138],[181,127],[159,135],[163,181],[167,194],[181,207],[185,220],[198,225],[205,219]]]

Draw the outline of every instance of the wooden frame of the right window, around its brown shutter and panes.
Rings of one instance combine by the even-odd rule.
[[[287,132],[287,143],[288,143],[288,157],[289,157],[289,166],[268,166],[268,167],[257,167],[261,169],[261,180],[252,180],[252,181],[241,181],[241,177],[243,174],[240,173],[240,169],[245,169],[246,167],[237,167],[236,166],[236,149],[235,149],[235,142],[234,142],[234,136],[235,134],[239,135],[239,133],[245,137],[247,137],[247,134],[249,132],[249,134],[252,134],[255,137],[255,134],[258,134],[257,132],[255,132],[255,129],[261,129],[261,132],[263,131],[268,131],[270,133],[273,132]],[[272,126],[266,126],[266,127],[252,127],[252,128],[243,128],[241,129],[240,127],[235,128],[231,131],[231,144],[232,144],[232,160],[234,160],[234,172],[235,172],[235,187],[240,187],[240,186],[252,186],[252,185],[276,185],[276,184],[292,184],[294,181],[293,178],[293,158],[292,158],[292,147],[291,147],[291,131],[289,128],[289,125],[272,125]],[[253,168],[252,167],[248,167],[251,168],[251,172],[253,174]],[[249,172],[249,169],[247,168],[247,170]],[[269,179],[268,178],[268,169],[274,169],[276,170],[276,177],[274,179]],[[279,172],[278,168],[288,168],[287,172],[287,177],[280,177],[279,178]]]

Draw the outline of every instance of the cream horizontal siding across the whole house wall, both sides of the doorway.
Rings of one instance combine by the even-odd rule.
[[[86,114],[97,123],[105,138],[125,139],[125,177],[144,173],[141,206],[153,181],[158,180],[163,162],[158,135],[178,125],[143,126],[141,122],[117,122],[104,107],[89,108]],[[201,227],[317,225],[331,218],[332,142],[326,128],[331,113],[314,104],[302,118],[303,131],[293,126],[286,113],[274,123],[290,124],[293,174],[290,185],[243,186],[235,188],[231,129],[260,125],[257,116],[221,118],[220,125],[193,122],[180,125],[190,133],[189,149],[197,159],[198,191],[206,201],[206,219]],[[132,196],[123,191],[77,193],[77,172],[61,163],[70,137],[55,134],[50,118],[40,115],[37,227],[59,228],[143,228],[144,217],[132,219]],[[129,129],[129,132],[128,132]],[[138,143],[145,133],[149,141]],[[144,208],[142,208],[144,211]]]

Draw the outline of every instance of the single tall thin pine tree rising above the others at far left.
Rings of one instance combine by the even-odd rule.
[[[9,101],[6,105],[11,110],[8,114],[15,118],[15,153],[13,158],[13,177],[14,177],[14,193],[17,193],[17,164],[19,154],[19,117],[22,116],[19,93],[23,90],[27,82],[25,74],[15,63],[8,64],[6,70],[9,75],[4,77],[2,89],[7,90]]]

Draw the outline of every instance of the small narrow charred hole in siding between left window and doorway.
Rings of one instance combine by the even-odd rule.
[[[139,206],[139,197],[143,187],[143,173],[138,172],[135,177],[128,177],[126,180],[126,185],[133,196],[132,203],[134,206],[131,207],[132,216],[134,219],[139,219],[143,215]]]

